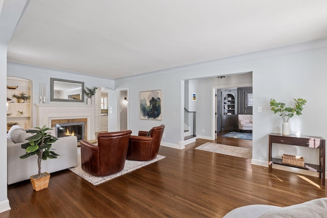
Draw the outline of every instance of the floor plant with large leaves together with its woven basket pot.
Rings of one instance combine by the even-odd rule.
[[[52,143],[58,140],[55,136],[47,133],[51,130],[46,128],[45,125],[42,128],[35,127],[35,129],[27,130],[26,132],[32,133],[32,136],[26,138],[29,142],[21,144],[21,148],[26,150],[26,154],[21,155],[20,159],[25,159],[33,155],[37,155],[38,174],[31,176],[31,182],[33,189],[39,191],[44,188],[48,188],[50,174],[44,172],[41,173],[41,161],[48,158],[57,158],[59,154],[51,151]]]

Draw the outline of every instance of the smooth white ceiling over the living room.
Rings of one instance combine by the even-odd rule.
[[[326,37],[326,0],[31,0],[8,61],[116,79]]]

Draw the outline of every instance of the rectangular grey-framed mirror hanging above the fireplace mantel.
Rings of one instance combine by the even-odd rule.
[[[52,102],[84,102],[84,82],[50,78]]]

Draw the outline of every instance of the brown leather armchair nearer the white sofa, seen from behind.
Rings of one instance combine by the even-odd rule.
[[[132,131],[98,134],[98,145],[81,140],[83,171],[93,176],[107,176],[123,170]]]

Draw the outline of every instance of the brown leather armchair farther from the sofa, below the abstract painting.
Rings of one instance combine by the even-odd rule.
[[[153,127],[149,132],[139,131],[129,138],[127,160],[152,160],[159,151],[165,125]]]

